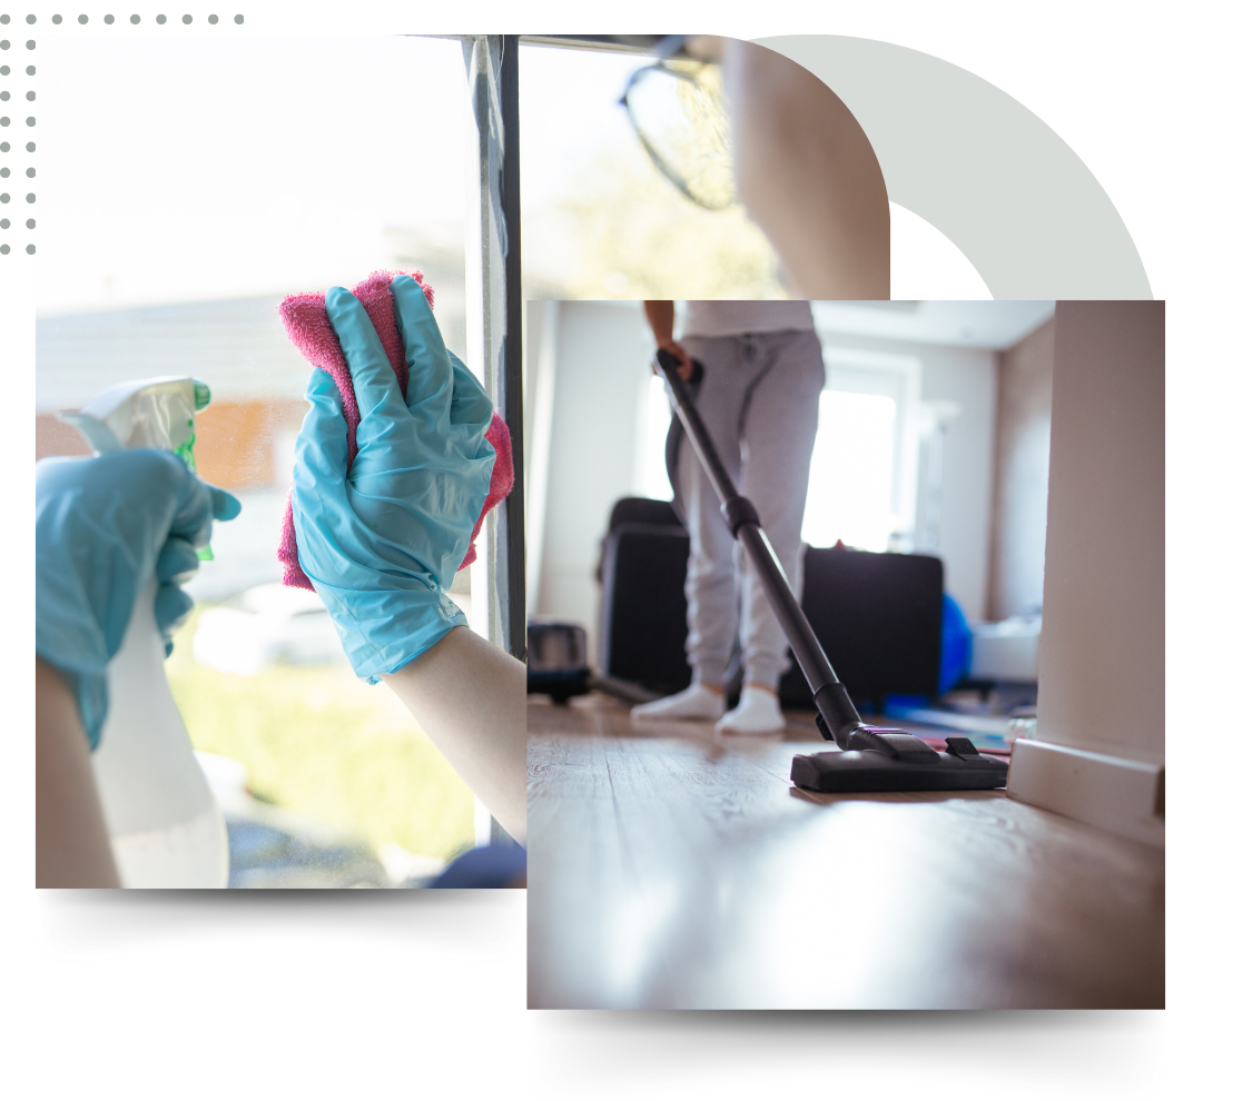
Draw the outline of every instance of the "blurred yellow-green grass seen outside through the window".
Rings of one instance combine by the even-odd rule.
[[[473,794],[391,689],[347,663],[219,673],[192,657],[199,612],[165,662],[197,749],[240,761],[257,796],[376,850],[449,857],[473,845]]]

